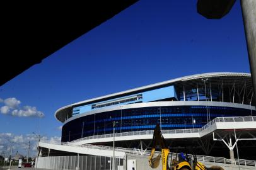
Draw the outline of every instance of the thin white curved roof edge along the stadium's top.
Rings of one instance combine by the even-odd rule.
[[[203,78],[203,77],[228,77],[228,76],[251,77],[251,74],[250,73],[245,73],[245,72],[209,72],[209,73],[203,73],[203,74],[193,74],[193,75],[190,75],[190,76],[183,76],[183,77],[179,77],[179,78],[175,78],[175,79],[170,79],[168,81],[149,84],[149,85],[146,85],[146,86],[142,86],[140,88],[129,89],[129,90],[121,91],[121,92],[118,92],[118,93],[108,94],[108,95],[100,96],[100,97],[97,97],[97,98],[92,98],[92,99],[86,99],[84,101],[79,101],[77,103],[73,103],[71,105],[67,105],[67,106],[64,106],[62,108],[59,108],[57,111],[55,111],[54,116],[57,120],[59,120],[57,118],[57,113],[59,111],[71,108],[72,106],[81,105],[83,103],[88,103],[88,102],[96,101],[96,100],[99,100],[99,99],[110,98],[110,97],[113,97],[113,96],[119,96],[119,95],[122,95],[122,94],[125,94],[125,93],[132,93],[132,92],[141,91],[141,90],[144,90],[144,89],[155,88],[155,87],[158,87],[158,86],[163,86],[165,84],[170,84],[170,83],[177,82],[177,81],[188,81],[188,80],[199,79],[199,78]],[[61,121],[61,120],[59,120],[59,121]]]

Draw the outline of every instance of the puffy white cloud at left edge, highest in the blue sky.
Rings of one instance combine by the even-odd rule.
[[[42,111],[38,111],[35,106],[23,106],[21,107],[21,101],[16,98],[7,98],[2,99],[2,103],[4,102],[4,106],[0,108],[0,112],[3,114],[8,114],[12,116],[19,117],[28,117],[28,116],[37,116],[44,117],[44,113]],[[1,103],[1,102],[0,102]]]

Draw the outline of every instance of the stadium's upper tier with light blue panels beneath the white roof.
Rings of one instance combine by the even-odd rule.
[[[96,110],[100,112],[110,107],[155,101],[218,101],[250,105],[253,103],[252,100],[254,98],[250,74],[213,72],[180,77],[80,101],[57,110],[55,118],[65,122],[82,113],[92,113]]]

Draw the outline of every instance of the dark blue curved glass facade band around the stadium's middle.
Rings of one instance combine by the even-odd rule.
[[[207,108],[211,120],[220,116],[250,115],[250,110],[241,108]],[[207,114],[206,106],[157,106],[96,113],[67,122],[62,127],[62,142],[112,133],[113,121],[118,122],[117,132],[153,130],[156,124],[161,124],[162,129],[201,128],[207,123]]]

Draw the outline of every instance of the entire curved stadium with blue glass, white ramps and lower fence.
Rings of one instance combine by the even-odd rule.
[[[37,167],[148,169],[159,124],[172,152],[169,160],[186,152],[207,166],[251,169],[256,167],[252,103],[250,74],[233,72],[180,77],[74,103],[55,112],[64,123],[62,142],[38,140]]]

